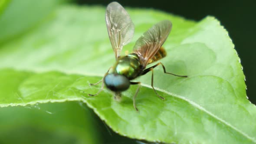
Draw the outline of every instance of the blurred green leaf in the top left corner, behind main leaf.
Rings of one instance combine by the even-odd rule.
[[[0,43],[30,30],[64,0],[1,0]]]

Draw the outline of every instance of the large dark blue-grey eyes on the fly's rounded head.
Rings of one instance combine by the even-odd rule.
[[[130,81],[124,75],[108,74],[104,78],[105,85],[114,92],[122,92],[130,87]]]

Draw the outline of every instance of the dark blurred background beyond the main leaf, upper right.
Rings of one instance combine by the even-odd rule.
[[[247,96],[256,104],[256,0],[116,0],[123,7],[153,8],[200,21],[215,16],[229,32],[246,76]],[[107,6],[112,0],[75,0]],[[175,24],[175,23],[174,23]]]

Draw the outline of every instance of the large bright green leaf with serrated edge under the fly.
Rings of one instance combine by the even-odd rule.
[[[0,106],[83,101],[121,135],[147,141],[182,144],[256,144],[256,107],[246,98],[245,76],[227,32],[213,17],[196,23],[155,10],[128,9],[135,36],[124,50],[160,20],[173,29],[164,44],[167,72],[141,76],[122,101],[98,82],[115,62],[105,26],[105,8],[62,6],[52,19],[0,49]]]

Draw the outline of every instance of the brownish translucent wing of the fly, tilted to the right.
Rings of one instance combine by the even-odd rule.
[[[167,39],[172,24],[163,20],[150,29],[136,41],[133,51],[139,56],[141,64],[146,67]]]

